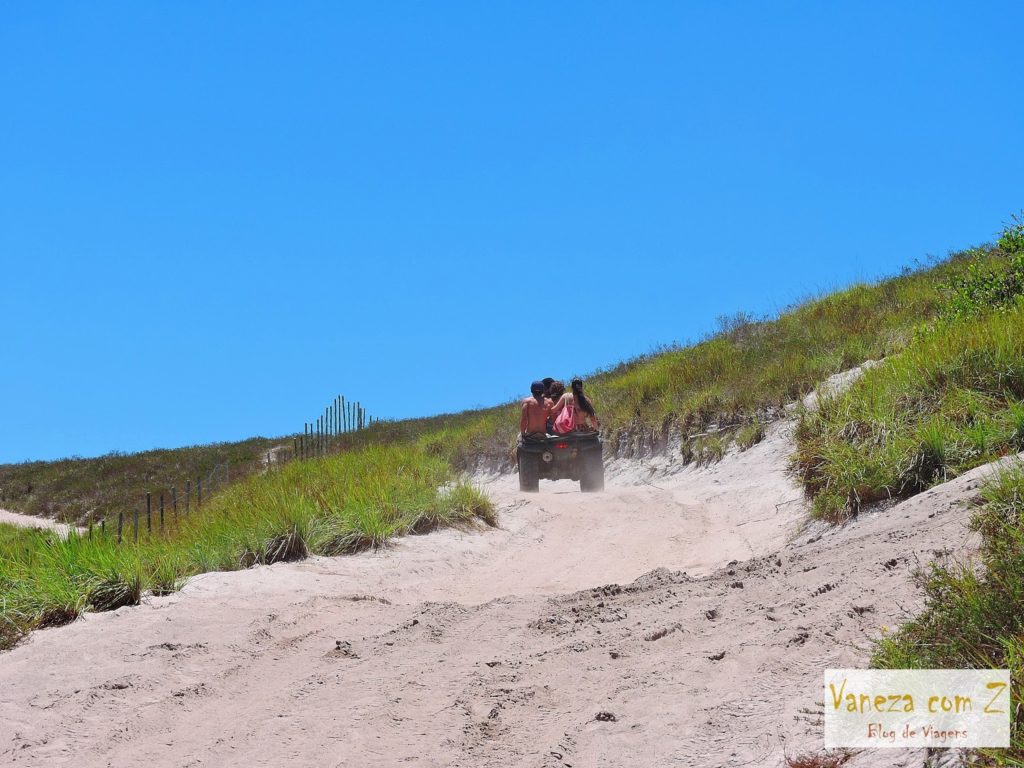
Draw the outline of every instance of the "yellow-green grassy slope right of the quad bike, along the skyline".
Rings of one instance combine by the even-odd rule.
[[[773,321],[736,317],[721,333],[594,381],[612,431],[675,425],[685,433],[752,422],[822,378],[899,349],[939,304],[945,264],[808,301]]]

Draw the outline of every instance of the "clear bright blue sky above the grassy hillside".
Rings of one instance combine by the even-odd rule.
[[[4,3],[0,462],[492,404],[988,241],[1022,23]]]

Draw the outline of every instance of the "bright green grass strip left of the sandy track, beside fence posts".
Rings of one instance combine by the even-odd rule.
[[[0,648],[25,633],[167,594],[190,575],[338,555],[439,526],[494,523],[481,492],[411,445],[371,446],[252,476],[163,534],[62,540],[0,525]]]

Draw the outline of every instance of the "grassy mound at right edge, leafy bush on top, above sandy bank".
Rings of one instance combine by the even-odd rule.
[[[815,512],[916,494],[1024,450],[1024,251],[1009,229],[951,275],[936,322],[797,431]]]

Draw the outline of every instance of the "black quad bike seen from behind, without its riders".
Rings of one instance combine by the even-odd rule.
[[[579,480],[584,493],[604,490],[600,432],[520,437],[515,455],[520,490],[538,490],[542,478]]]

